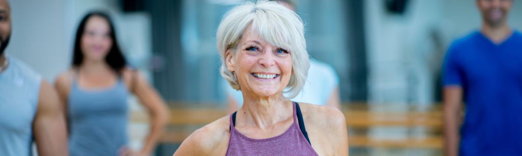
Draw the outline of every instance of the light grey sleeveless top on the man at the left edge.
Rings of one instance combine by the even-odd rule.
[[[23,62],[8,59],[9,67],[0,73],[0,155],[29,156],[42,77]]]

